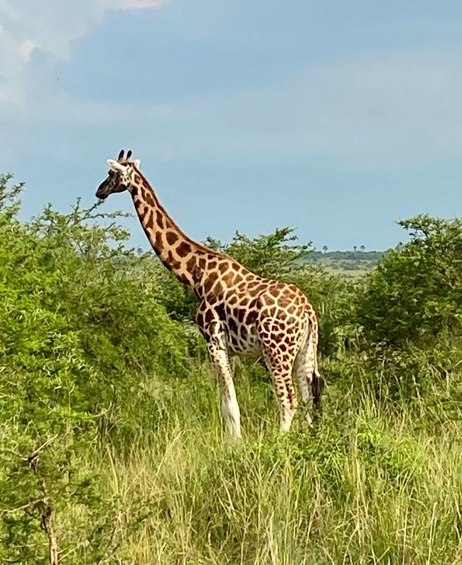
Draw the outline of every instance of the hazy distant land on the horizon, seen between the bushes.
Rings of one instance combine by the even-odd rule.
[[[383,251],[313,251],[307,260],[323,264],[328,270],[348,278],[361,276],[374,269]]]

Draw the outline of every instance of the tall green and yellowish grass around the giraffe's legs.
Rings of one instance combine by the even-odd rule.
[[[294,431],[280,436],[271,389],[258,377],[240,367],[240,443],[222,434],[205,367],[156,387],[146,377],[151,400],[130,448],[107,443],[88,453],[116,517],[100,562],[462,563],[454,421],[425,424],[421,399],[384,404],[366,385],[339,380],[314,429],[299,414]],[[74,508],[58,521],[65,537],[82,516]],[[85,551],[70,562],[86,563]]]

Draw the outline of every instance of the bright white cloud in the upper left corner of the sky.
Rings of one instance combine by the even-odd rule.
[[[27,97],[36,53],[69,56],[71,41],[85,35],[110,10],[154,9],[169,0],[0,0],[0,102]]]

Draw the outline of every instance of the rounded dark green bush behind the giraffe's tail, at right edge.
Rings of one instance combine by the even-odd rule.
[[[461,220],[420,215],[398,223],[412,240],[385,254],[358,297],[367,338],[402,347],[461,337]]]

